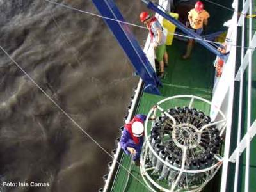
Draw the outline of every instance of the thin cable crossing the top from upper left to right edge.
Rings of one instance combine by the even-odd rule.
[[[47,2],[52,3],[52,4],[57,4],[57,5],[59,5],[59,6],[68,8],[68,9],[70,9],[70,10],[76,10],[77,12],[82,12],[82,13],[86,13],[86,14],[89,14],[89,15],[93,15],[93,16],[96,16],[96,17],[100,17],[100,18],[102,18],[102,19],[113,20],[113,21],[116,21],[116,22],[121,22],[121,23],[130,25],[130,26],[135,26],[135,27],[138,27],[138,28],[147,29],[147,28],[144,27],[144,26],[140,26],[140,25],[137,25],[137,24],[132,24],[131,22],[125,22],[125,21],[122,21],[122,20],[112,19],[112,18],[109,18],[109,17],[104,17],[104,16],[102,16],[102,15],[97,15],[97,14],[91,13],[91,12],[86,12],[86,11],[84,11],[84,10],[79,10],[79,9],[74,8],[74,7],[72,7],[72,6],[68,6],[68,5],[66,5],[66,4],[61,4],[61,3],[57,3],[57,2],[54,2],[54,1],[50,1],[50,0],[44,0],[44,1],[47,1]],[[205,39],[202,39],[202,38],[195,38],[195,37],[191,37],[191,36],[180,35],[180,34],[177,34],[177,33],[168,32],[168,34],[170,34],[170,35],[175,35],[175,36],[182,36],[182,37],[184,37],[184,38],[193,39],[193,40],[198,40],[198,41],[209,42],[209,43],[212,43],[212,44],[219,44],[219,45],[222,44],[221,42],[214,42],[214,41],[205,40]],[[232,44],[227,44],[227,45],[230,45],[230,46],[232,46],[232,47],[244,48],[244,49],[253,49],[253,50],[255,49],[255,48],[244,47],[244,46],[239,46],[239,45],[232,45]]]

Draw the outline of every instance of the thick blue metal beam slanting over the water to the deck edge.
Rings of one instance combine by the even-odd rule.
[[[111,29],[116,40],[127,54],[136,72],[145,83],[145,92],[161,95],[158,90],[161,82],[156,75],[154,68],[150,65],[145,53],[138,44],[136,38],[131,32],[131,29],[124,22],[117,22],[116,20],[124,21],[122,14],[119,12],[113,0],[92,0],[97,10],[104,17],[109,29]]]

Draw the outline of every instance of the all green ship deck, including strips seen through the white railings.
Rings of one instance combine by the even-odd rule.
[[[221,4],[231,7],[228,0],[220,1]],[[222,14],[219,14],[220,9],[216,8],[216,6],[212,4],[207,4],[207,8],[209,8],[209,12],[211,15],[214,15],[214,19],[209,20],[209,24],[211,22],[214,22],[218,20],[218,22],[214,22],[214,24],[211,24],[207,27],[207,31],[216,32],[220,31],[223,28],[223,22],[225,20],[229,20],[230,16],[232,15],[232,12],[225,11],[222,12]],[[224,10],[223,10],[224,11]],[[253,26],[255,26],[255,21],[253,22]],[[211,100],[212,97],[212,88],[214,84],[214,67],[212,65],[212,62],[215,59],[215,56],[207,51],[204,47],[202,47],[200,44],[196,44],[193,48],[193,53],[191,57],[188,60],[182,60],[182,54],[186,50],[186,42],[182,42],[180,40],[173,40],[173,44],[171,46],[167,46],[167,51],[169,55],[169,66],[165,68],[165,76],[162,79],[163,87],[160,88],[161,96],[157,95],[150,95],[148,93],[143,93],[140,102],[138,104],[138,108],[136,110],[136,113],[143,113],[147,114],[148,111],[152,108],[156,102],[159,102],[159,100],[162,100],[166,97],[170,97],[173,95],[196,95],[199,97],[203,97],[204,99]],[[253,60],[255,61],[256,54],[253,54]],[[253,65],[253,82],[252,82],[252,95],[256,93],[256,67]],[[244,77],[245,81],[248,77]],[[238,94],[238,93],[236,93]],[[246,90],[244,90],[244,95],[246,98]],[[236,97],[235,97],[236,100]],[[246,99],[244,99],[244,103],[246,102]],[[252,108],[255,106],[256,103],[256,97],[252,97]],[[203,103],[197,103],[197,106],[199,106],[201,109],[204,109],[204,111],[209,111],[209,108],[207,106],[204,106]],[[236,102],[235,102],[236,105]],[[238,105],[238,104],[237,104]],[[178,100],[175,103],[175,106],[184,106],[183,100]],[[246,106],[244,106],[246,109]],[[238,111],[238,108],[235,108]],[[252,120],[256,118],[256,111],[252,110]],[[244,117],[246,119],[246,117]],[[234,124],[236,123],[236,120],[234,120]],[[246,120],[243,122],[243,126],[246,127]],[[234,126],[234,129],[237,129],[237,126]],[[244,129],[245,130],[245,129]],[[234,130],[236,132],[236,130]],[[232,136],[232,143],[230,143],[234,148],[236,145],[236,136]],[[255,180],[255,171],[256,171],[256,154],[254,152],[256,148],[256,139],[254,138],[251,143],[251,157],[250,157],[250,191],[256,191],[256,186],[254,185],[253,181]],[[230,149],[231,150],[231,149]],[[127,169],[129,172],[132,173],[137,179],[134,179],[129,173],[127,173],[127,170],[124,170],[124,168],[118,166],[115,175],[113,175],[111,180],[111,186],[109,187],[108,191],[148,191],[148,188],[145,187],[144,184],[141,184],[143,182],[143,179],[140,175],[140,170],[137,166],[134,166],[131,163],[131,157],[127,156],[122,152],[120,154],[120,163]],[[241,161],[245,161],[245,152],[243,156],[241,156]],[[242,163],[240,167],[240,178],[241,180],[239,185],[238,191],[243,191],[244,189],[244,167],[245,164]],[[234,164],[231,164],[229,169],[234,170]],[[218,174],[212,179],[207,186],[205,186],[204,191],[219,191],[218,188],[220,188],[220,175],[221,170],[219,170]],[[233,191],[232,184],[234,176],[228,178],[228,189],[230,191]],[[140,181],[139,181],[140,180]],[[229,191],[229,190],[228,190]]]

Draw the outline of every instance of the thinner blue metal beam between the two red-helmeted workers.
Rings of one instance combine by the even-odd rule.
[[[209,44],[209,42],[205,42],[204,39],[197,35],[195,32],[191,31],[189,28],[187,28],[184,24],[182,24],[182,22],[180,22],[179,20],[176,20],[175,18],[173,18],[172,16],[168,15],[167,13],[164,13],[161,9],[159,9],[154,3],[152,3],[149,0],[142,0],[145,4],[147,4],[147,7],[150,8],[151,10],[153,10],[154,12],[157,12],[159,15],[162,15],[165,19],[170,20],[170,22],[172,22],[175,26],[177,26],[177,28],[179,28],[181,31],[183,31],[184,33],[200,39],[198,40],[198,43],[200,43],[201,45],[203,45],[206,49],[208,49],[209,51],[213,52],[214,54],[216,54],[217,56],[219,56],[221,59],[223,59],[224,61],[227,61],[227,54],[222,54],[220,51],[218,51],[215,47],[213,47],[211,44]]]

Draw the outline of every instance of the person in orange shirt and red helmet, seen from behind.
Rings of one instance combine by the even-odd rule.
[[[188,27],[197,33],[197,35],[200,35],[203,31],[203,24],[207,26],[209,17],[209,13],[204,10],[204,4],[201,1],[197,1],[195,8],[188,12]],[[186,54],[182,56],[183,59],[189,58],[192,51],[193,42],[194,40],[189,38]]]

